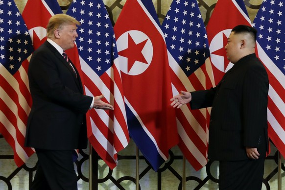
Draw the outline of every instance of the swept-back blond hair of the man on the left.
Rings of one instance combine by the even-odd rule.
[[[47,37],[53,38],[53,31],[56,29],[61,29],[64,25],[76,24],[80,25],[80,22],[67,14],[56,14],[50,17],[47,25]]]

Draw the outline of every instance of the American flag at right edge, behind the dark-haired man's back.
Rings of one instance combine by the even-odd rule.
[[[253,26],[258,56],[269,77],[268,135],[285,156],[285,2],[264,0]]]

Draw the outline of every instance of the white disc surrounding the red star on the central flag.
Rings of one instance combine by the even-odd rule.
[[[147,40],[144,47],[142,48],[142,55],[147,63],[135,61],[130,71],[128,71],[128,58],[119,55],[120,70],[129,75],[139,75],[144,72],[151,63],[151,60],[153,58],[153,46],[149,37],[145,33],[139,30],[129,30],[118,38],[118,52],[128,48],[128,34],[133,39],[135,44],[140,44],[141,42]]]

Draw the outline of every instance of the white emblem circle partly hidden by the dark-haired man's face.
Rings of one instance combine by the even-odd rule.
[[[219,33],[217,33],[214,36],[213,40],[211,41],[211,44],[209,47],[210,53],[211,53],[211,61],[212,61],[213,65],[218,70],[220,70],[222,72],[226,72],[226,71],[230,70],[234,66],[234,64],[230,62],[228,64],[227,68],[225,68],[224,57],[221,55],[213,54],[212,52],[219,50],[221,48],[225,48],[224,42],[223,42],[223,34],[226,35],[227,37],[229,37],[231,34],[231,31],[232,31],[232,29],[226,29],[226,30],[222,30]]]

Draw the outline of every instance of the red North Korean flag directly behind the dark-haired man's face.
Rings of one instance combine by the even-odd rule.
[[[251,26],[243,0],[218,0],[206,27],[215,85],[234,65],[227,59],[225,46],[232,29],[239,24]]]

